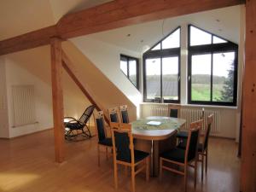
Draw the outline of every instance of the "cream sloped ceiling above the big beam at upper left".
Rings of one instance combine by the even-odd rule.
[[[55,25],[63,15],[111,0],[1,0],[0,40]]]

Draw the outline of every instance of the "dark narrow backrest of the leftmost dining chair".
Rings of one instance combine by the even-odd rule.
[[[98,132],[98,139],[102,141],[106,138],[105,119],[103,111],[95,113],[95,125]]]

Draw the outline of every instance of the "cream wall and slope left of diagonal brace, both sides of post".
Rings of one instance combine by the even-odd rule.
[[[4,94],[8,97],[6,109],[3,111],[0,107],[1,120],[7,119],[0,125],[0,137],[18,137],[53,128],[49,46],[4,55],[0,57],[0,69],[0,97],[2,98]],[[79,118],[90,102],[65,71],[62,77],[64,116]],[[34,85],[37,124],[12,127],[14,122],[11,87],[15,84]],[[3,112],[6,116],[2,115]],[[5,129],[2,128],[3,126]]]

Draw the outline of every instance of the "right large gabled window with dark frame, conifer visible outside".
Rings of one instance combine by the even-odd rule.
[[[236,106],[238,46],[189,26],[189,103]]]

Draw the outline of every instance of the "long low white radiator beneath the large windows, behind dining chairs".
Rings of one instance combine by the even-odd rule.
[[[204,122],[207,122],[207,116],[213,113],[213,123],[211,132],[218,133],[220,132],[220,115],[222,113],[221,109],[205,109],[205,117]],[[150,108],[150,116],[169,116],[167,107],[154,107]],[[181,108],[181,118],[186,119],[186,124],[184,125],[184,129],[189,129],[189,124],[195,120],[199,120],[201,117],[201,109],[195,108]],[[205,129],[205,127],[203,127]]]

